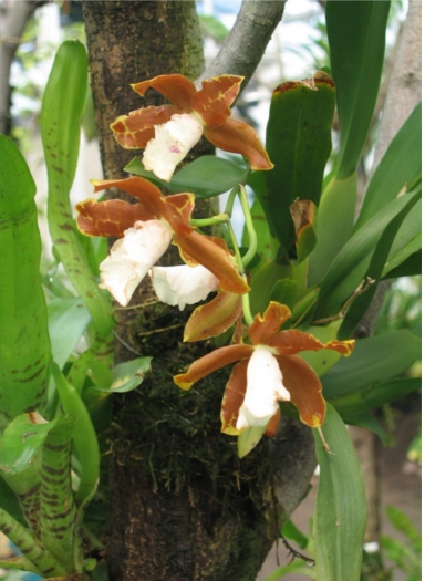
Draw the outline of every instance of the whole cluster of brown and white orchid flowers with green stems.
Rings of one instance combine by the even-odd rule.
[[[172,179],[176,166],[203,135],[221,149],[243,155],[251,169],[269,170],[273,165],[252,127],[230,116],[230,105],[242,80],[221,75],[204,81],[197,91],[185,76],[170,74],[132,85],[141,95],[149,87],[156,89],[172,104],[120,116],[111,125],[114,136],[125,148],[143,148],[145,169],[165,181]],[[191,217],[195,207],[191,193],[165,196],[139,176],[93,184],[95,191],[115,187],[136,200],[129,204],[121,199],[87,199],[76,206],[77,226],[83,234],[117,238],[100,266],[100,286],[121,305],[129,303],[139,282],[149,276],[158,299],[180,310],[216,292],[210,302],[191,313],[184,341],[206,340],[235,323],[246,324],[245,333],[243,326],[237,324],[232,344],[195,361],[186,373],[174,377],[175,383],[188,390],[206,375],[235,364],[222,398],[222,432],[240,435],[253,428],[257,437],[252,446],[263,433],[276,434],[279,402],[291,402],[303,423],[320,428],[325,416],[321,382],[298,353],[326,349],[349,355],[354,342],[322,343],[308,332],[281,330],[291,311],[276,301],[269,303],[262,315],[252,317],[245,267],[256,252],[256,231],[245,186],[234,188],[224,214],[199,220]],[[236,197],[241,203],[250,241],[245,256],[230,221]],[[199,227],[217,222],[227,225],[232,251],[222,239],[199,231]],[[170,243],[178,247],[184,264],[155,266]]]

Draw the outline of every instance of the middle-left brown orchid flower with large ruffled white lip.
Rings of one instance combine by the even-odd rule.
[[[76,205],[76,224],[83,234],[118,238],[100,268],[101,286],[120,304],[128,304],[138,283],[170,242],[178,246],[189,267],[201,264],[215,277],[209,278],[211,290],[219,286],[236,294],[249,291],[225,241],[204,236],[190,226],[195,205],[193,194],[164,196],[151,181],[137,176],[93,181],[93,185],[95,191],[116,187],[137,200],[129,204],[120,199],[87,199]],[[186,302],[190,300],[193,297]],[[180,298],[177,303],[182,304],[182,301]]]

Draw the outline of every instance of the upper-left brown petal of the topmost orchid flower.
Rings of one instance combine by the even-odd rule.
[[[190,103],[196,95],[194,83],[183,74],[160,74],[148,81],[132,84],[132,87],[142,96],[144,96],[148,89],[156,89],[156,91],[168,98],[168,101],[187,113],[190,112]]]

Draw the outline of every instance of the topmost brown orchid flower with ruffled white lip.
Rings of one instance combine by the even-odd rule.
[[[245,155],[252,169],[271,169],[273,165],[253,128],[230,117],[230,105],[242,80],[225,74],[203,81],[200,91],[182,74],[133,84],[139,95],[153,87],[172,104],[132,111],[117,117],[111,128],[123,147],[145,148],[145,168],[166,181],[203,135],[220,149]]]

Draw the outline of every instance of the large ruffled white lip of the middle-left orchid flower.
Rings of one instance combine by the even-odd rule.
[[[160,220],[137,221],[125,230],[124,238],[113,243],[110,256],[101,263],[100,287],[126,307],[138,283],[164,255],[173,232]]]

